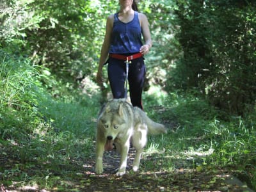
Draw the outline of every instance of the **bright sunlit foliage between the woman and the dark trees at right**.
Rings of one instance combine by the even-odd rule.
[[[173,1],[140,1],[140,11],[145,13],[150,24],[153,46],[146,55],[147,78],[150,86],[166,86],[166,81],[175,61],[182,56],[175,38],[179,28],[175,24],[175,3]]]

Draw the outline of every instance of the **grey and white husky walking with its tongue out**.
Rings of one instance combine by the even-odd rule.
[[[115,143],[120,153],[120,167],[117,176],[125,174],[127,154],[132,146],[136,150],[132,169],[138,171],[143,147],[147,144],[147,134],[163,134],[167,130],[162,124],[153,122],[140,108],[132,107],[125,99],[113,99],[102,108],[97,120],[95,172],[103,172],[104,150],[111,150]]]

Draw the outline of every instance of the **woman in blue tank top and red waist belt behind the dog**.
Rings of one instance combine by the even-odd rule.
[[[129,92],[132,106],[143,109],[141,95],[145,78],[143,55],[152,47],[148,19],[138,13],[133,0],[119,0],[120,11],[110,15],[106,23],[106,34],[100,51],[97,82],[102,84],[102,67],[108,59],[108,79],[114,99],[125,97],[126,65],[129,56]],[[141,35],[145,44],[142,42]]]

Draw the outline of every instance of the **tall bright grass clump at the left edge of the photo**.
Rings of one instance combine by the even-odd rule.
[[[0,104],[2,138],[11,138],[19,132],[31,132],[38,124],[37,110],[40,83],[36,67],[31,67],[25,58],[12,58],[0,52]],[[24,129],[23,127],[26,127]]]

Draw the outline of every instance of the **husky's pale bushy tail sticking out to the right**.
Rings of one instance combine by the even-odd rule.
[[[143,119],[145,120],[145,123],[148,127],[148,134],[150,135],[156,135],[156,134],[163,134],[167,133],[167,129],[163,124],[159,124],[157,122],[154,122],[152,119],[150,119],[147,114],[140,110],[141,116],[143,116]]]

